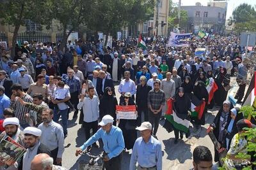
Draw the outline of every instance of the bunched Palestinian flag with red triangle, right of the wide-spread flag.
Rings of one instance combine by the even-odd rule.
[[[195,95],[191,96],[191,117],[201,120],[204,114],[205,101],[199,100]]]

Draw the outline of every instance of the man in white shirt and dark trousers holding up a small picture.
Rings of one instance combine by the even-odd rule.
[[[81,99],[77,104],[77,108],[80,110],[83,108],[84,114],[84,131],[86,141],[90,138],[90,130],[92,129],[93,134],[98,130],[98,119],[99,119],[99,100],[94,95],[94,87],[88,88],[88,96],[81,95]],[[94,143],[93,146],[97,147]],[[87,151],[90,151],[91,146],[87,147]]]

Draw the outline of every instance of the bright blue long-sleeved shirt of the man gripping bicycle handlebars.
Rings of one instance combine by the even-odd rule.
[[[92,145],[99,139],[103,141],[103,149],[108,153],[109,159],[117,157],[124,150],[124,136],[123,132],[119,127],[112,125],[109,133],[105,132],[100,128],[93,136],[88,139],[80,148],[84,150],[88,146]]]

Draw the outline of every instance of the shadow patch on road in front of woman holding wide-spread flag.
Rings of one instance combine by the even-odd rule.
[[[178,159],[180,164],[183,164],[185,160],[192,159],[191,145],[184,143],[183,140],[179,139],[177,144],[174,144],[175,138],[163,140],[164,151],[166,152],[168,160]]]

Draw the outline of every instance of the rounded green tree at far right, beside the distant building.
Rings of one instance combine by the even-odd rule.
[[[232,17],[228,18],[228,25],[234,23],[236,32],[256,31],[256,11],[249,4],[240,4],[233,11]]]

